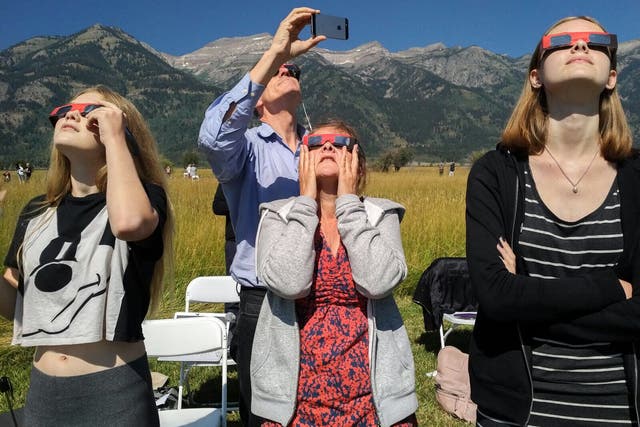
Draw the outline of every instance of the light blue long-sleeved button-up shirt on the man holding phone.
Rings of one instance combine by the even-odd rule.
[[[227,199],[237,244],[230,274],[242,286],[258,286],[255,241],[260,204],[300,193],[300,142],[294,153],[268,124],[249,129],[263,91],[264,86],[246,74],[209,106],[198,137]],[[223,122],[232,103],[235,111]],[[298,125],[298,136],[304,133],[304,127]]]

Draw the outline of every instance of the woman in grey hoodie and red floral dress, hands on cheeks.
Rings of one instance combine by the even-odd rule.
[[[393,289],[407,274],[404,208],[361,197],[355,131],[305,136],[300,196],[261,205],[268,288],[251,358],[252,411],[277,426],[416,426],[413,356]],[[277,390],[277,392],[276,392]]]

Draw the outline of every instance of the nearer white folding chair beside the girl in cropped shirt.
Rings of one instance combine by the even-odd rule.
[[[190,360],[202,353],[226,349],[226,327],[214,317],[146,320],[142,323],[147,356],[158,360],[177,357]],[[226,365],[226,352],[223,351]],[[227,424],[226,408],[182,408],[182,387],[178,387],[178,409],[158,412],[161,427],[209,426]]]

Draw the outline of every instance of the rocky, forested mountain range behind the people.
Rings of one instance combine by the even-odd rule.
[[[96,24],[65,37],[35,37],[0,52],[0,166],[45,166],[47,114],[78,90],[106,84],[147,118],[163,156],[194,156],[208,105],[270,45],[269,34],[222,38],[171,56],[124,31]],[[463,161],[498,142],[520,93],[529,57],[478,46],[433,44],[390,52],[377,42],[349,51],[315,48],[296,58],[311,123],[355,125],[367,154],[408,146],[417,160]],[[640,137],[640,40],[618,50],[619,91]],[[306,124],[304,111],[299,120]],[[200,156],[203,159],[203,156]],[[204,160],[202,160],[204,163]]]

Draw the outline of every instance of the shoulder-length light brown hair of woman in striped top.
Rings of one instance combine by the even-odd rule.
[[[544,33],[550,34],[558,25],[568,21],[583,20],[596,24],[602,31],[604,27],[595,19],[588,16],[570,16],[554,23]],[[544,150],[547,138],[547,98],[544,87],[534,88],[529,81],[531,71],[538,69],[543,58],[542,41],[538,42],[533,51],[529,69],[525,78],[520,99],[511,113],[511,117],[502,132],[502,142],[516,152],[539,154]],[[617,67],[616,52],[610,52],[611,69]],[[604,89],[600,94],[600,152],[611,162],[619,161],[631,153],[633,137],[627,118],[620,102],[616,87]]]

